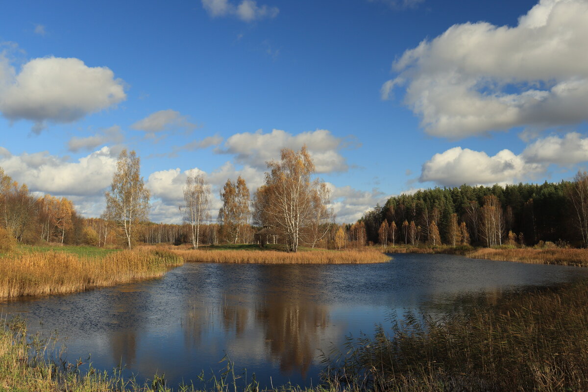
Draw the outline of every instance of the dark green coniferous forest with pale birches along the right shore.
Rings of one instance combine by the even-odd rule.
[[[359,222],[373,243],[414,244],[416,239],[429,244],[550,241],[586,246],[587,183],[586,173],[578,173],[573,182],[435,187],[390,197]]]

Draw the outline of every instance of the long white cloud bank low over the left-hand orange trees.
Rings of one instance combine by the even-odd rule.
[[[96,196],[108,187],[116,170],[116,158],[108,147],[77,162],[47,152],[0,156],[0,166],[30,190],[59,196]]]

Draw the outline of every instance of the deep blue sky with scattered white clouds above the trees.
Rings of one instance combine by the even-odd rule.
[[[181,219],[186,170],[254,190],[303,143],[339,222],[586,169],[585,0],[21,1],[0,21],[0,167],[86,216],[122,148],[156,222]]]

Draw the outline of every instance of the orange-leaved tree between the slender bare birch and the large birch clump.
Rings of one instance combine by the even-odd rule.
[[[243,234],[243,228],[249,222],[249,189],[241,176],[237,182],[226,180],[220,190],[220,207],[218,222],[228,242],[237,243]]]

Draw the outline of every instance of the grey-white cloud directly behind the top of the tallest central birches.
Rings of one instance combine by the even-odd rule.
[[[273,129],[270,133],[262,130],[250,133],[236,133],[226,140],[219,153],[235,154],[238,163],[266,169],[266,162],[280,158],[280,150],[299,150],[306,145],[318,173],[345,172],[349,166],[338,150],[345,147],[343,139],[336,138],[326,129],[302,132],[297,135],[284,130]]]

